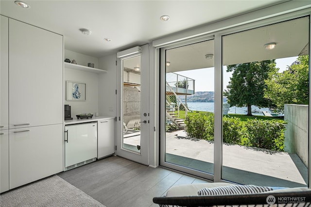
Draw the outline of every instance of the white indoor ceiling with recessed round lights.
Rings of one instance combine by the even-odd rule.
[[[65,49],[102,57],[283,0],[0,0],[0,14],[64,35]],[[162,15],[169,15],[167,22]],[[80,29],[92,31],[83,35]],[[22,34],[21,34],[22,35]],[[111,38],[105,42],[104,38]]]

